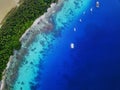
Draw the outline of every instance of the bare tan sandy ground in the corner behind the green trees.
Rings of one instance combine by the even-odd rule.
[[[0,0],[0,24],[7,13],[18,5],[19,0]]]

